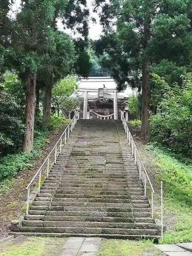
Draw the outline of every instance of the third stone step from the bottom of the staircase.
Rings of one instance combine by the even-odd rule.
[[[120,229],[155,229],[154,223],[127,223],[127,222],[80,222],[80,221],[42,221],[42,220],[24,220],[24,227],[43,227],[43,228],[120,228]]]

